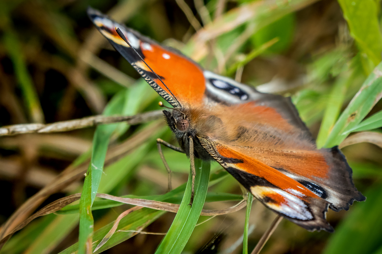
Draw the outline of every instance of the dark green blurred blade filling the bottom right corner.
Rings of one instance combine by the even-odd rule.
[[[382,185],[379,183],[364,194],[367,201],[352,207],[346,220],[336,227],[324,254],[371,254],[381,247]]]

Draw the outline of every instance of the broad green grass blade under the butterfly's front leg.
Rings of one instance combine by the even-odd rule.
[[[166,236],[155,251],[157,254],[181,253],[185,247],[191,233],[194,230],[197,219],[203,208],[204,200],[208,188],[210,162],[195,159],[195,198],[192,207],[189,200],[191,196],[191,174],[189,174],[185,195],[178,213]]]

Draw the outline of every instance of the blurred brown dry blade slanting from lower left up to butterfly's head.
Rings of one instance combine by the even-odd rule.
[[[116,145],[108,150],[105,159],[105,167],[110,165],[114,161],[118,160],[126,153],[135,149],[142,142],[146,141],[156,129],[163,125],[162,122],[154,123],[147,128],[142,129],[131,138],[127,139],[120,145]],[[54,181],[45,186],[35,195],[31,196],[26,202],[24,202],[8,220],[3,224],[0,232],[0,248],[2,247],[5,237],[10,234],[18,225],[24,222],[32,212],[40,205],[44,200],[46,200],[53,193],[57,193],[64,189],[74,181],[78,181],[84,176],[89,165],[89,160],[81,163],[78,166],[69,166],[62,173],[60,173]]]

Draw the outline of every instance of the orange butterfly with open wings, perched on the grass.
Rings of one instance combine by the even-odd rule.
[[[173,106],[163,114],[188,157],[191,149],[191,156],[216,160],[267,208],[310,231],[333,232],[328,208],[348,210],[354,200],[366,200],[338,147],[317,149],[290,97],[260,93],[204,70],[97,10],[87,13]]]

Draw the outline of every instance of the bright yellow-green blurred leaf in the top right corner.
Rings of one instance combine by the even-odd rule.
[[[377,3],[372,0],[338,0],[338,3],[342,8],[343,17],[348,22],[351,36],[356,40],[359,50],[368,57],[363,59],[363,66],[369,74],[381,61],[382,35]]]

